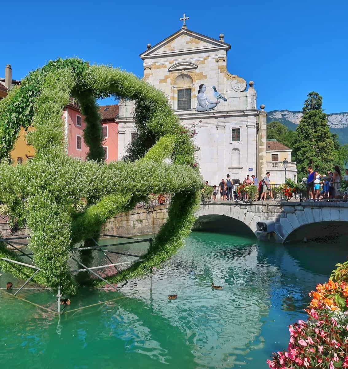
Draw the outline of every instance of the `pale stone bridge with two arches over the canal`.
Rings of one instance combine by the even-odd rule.
[[[251,231],[260,240],[281,243],[348,234],[347,202],[209,201],[201,204],[196,216],[195,229]],[[264,220],[275,222],[275,232],[267,234],[256,230],[257,222]]]

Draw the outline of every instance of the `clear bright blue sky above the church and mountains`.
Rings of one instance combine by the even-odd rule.
[[[231,44],[227,69],[253,80],[258,106],[300,110],[310,91],[348,111],[348,1],[3,1],[0,76],[79,56],[143,75],[139,54],[188,29]],[[105,102],[107,103],[107,102]]]

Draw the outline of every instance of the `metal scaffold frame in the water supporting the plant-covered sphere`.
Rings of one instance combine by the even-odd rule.
[[[135,255],[135,254],[129,254],[126,252],[120,252],[120,251],[110,251],[110,250],[105,250],[105,248],[109,247],[109,246],[116,246],[116,245],[131,245],[131,244],[138,244],[141,242],[149,242],[150,244],[150,248],[152,246],[152,238],[136,238],[136,237],[128,237],[128,236],[118,236],[118,235],[111,235],[111,234],[101,234],[101,236],[105,236],[105,237],[115,237],[115,238],[125,238],[125,239],[130,239],[130,240],[134,240],[134,241],[129,241],[129,242],[121,242],[119,244],[110,244],[110,245],[99,245],[97,241],[94,241],[95,246],[91,246],[91,247],[77,247],[73,249],[74,251],[79,251],[79,250],[95,250],[95,251],[101,251],[104,256],[108,259],[108,261],[111,264],[108,265],[98,265],[98,266],[92,266],[92,267],[87,267],[86,265],[83,265],[79,260],[77,260],[75,258],[75,256],[72,254],[70,255],[70,258],[72,260],[74,260],[77,264],[82,266],[82,269],[77,269],[77,270],[72,270],[72,272],[82,272],[84,270],[87,270],[88,272],[90,272],[91,274],[93,274],[94,276],[98,277],[100,280],[102,280],[104,283],[108,284],[110,287],[112,287],[112,289],[115,289],[116,291],[120,292],[120,290],[115,287],[113,284],[109,283],[107,280],[105,280],[104,278],[102,278],[100,275],[98,275],[97,273],[95,273],[93,271],[93,269],[102,269],[102,268],[107,268],[110,266],[114,266],[114,268],[116,269],[117,272],[119,272],[117,265],[125,265],[125,264],[130,264],[130,263],[135,263],[138,261],[143,261],[143,259],[140,259],[140,255]],[[10,237],[10,238],[0,238],[0,241],[5,242],[6,244],[8,244],[9,246],[11,246],[12,248],[14,248],[16,251],[20,252],[20,254],[18,254],[18,256],[27,256],[27,258],[33,260],[33,258],[31,257],[31,255],[33,255],[32,253],[28,253],[26,254],[25,252],[23,252],[20,248],[17,248],[15,245],[21,245],[21,246],[28,246],[28,244],[24,244],[23,242],[18,242],[18,241],[13,241],[13,240],[18,240],[18,239],[27,239],[30,238],[30,236],[17,236],[17,237]],[[135,258],[138,258],[137,260],[133,260],[133,261],[126,261],[126,262],[120,262],[120,263],[112,263],[112,260],[105,254],[106,252],[111,253],[111,254],[119,254],[119,255],[125,255],[125,256],[132,256]],[[15,264],[19,264],[19,265],[24,265],[27,266],[29,268],[32,269],[36,269],[35,273],[29,278],[27,279],[24,284],[22,284],[22,286],[20,288],[17,289],[17,291],[12,295],[12,296],[17,296],[17,294],[24,288],[24,286],[26,284],[28,284],[33,278],[34,276],[39,272],[40,268],[38,268],[35,265],[31,265],[31,264],[27,264],[27,263],[23,263],[20,261],[16,261],[16,260],[12,260],[12,259],[8,259],[8,258],[1,258],[1,260],[10,262],[10,263],[15,263]],[[126,281],[126,283],[128,283],[128,281]],[[123,285],[122,285],[123,287]],[[58,314],[60,315],[61,310],[60,310],[60,299],[62,297],[62,294],[60,293],[60,283],[58,284],[58,294],[57,294],[57,301],[58,301]],[[152,292],[152,270],[151,270],[151,292]],[[21,298],[20,298],[21,299]],[[24,300],[24,299],[22,299]],[[24,301],[28,301],[28,300],[24,300]],[[28,301],[31,303],[31,301]],[[34,304],[34,303],[33,303]],[[36,306],[39,306],[37,304],[34,304]],[[92,305],[94,306],[94,305]],[[42,307],[44,309],[46,309],[44,306],[39,306]],[[65,308],[65,307],[64,307]],[[63,308],[63,310],[64,310]],[[49,309],[46,309],[49,310]]]

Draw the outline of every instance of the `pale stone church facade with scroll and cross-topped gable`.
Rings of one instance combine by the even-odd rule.
[[[144,79],[167,96],[183,125],[195,124],[196,159],[204,180],[219,184],[229,173],[244,180],[247,174],[258,178],[266,171],[266,112],[256,106],[254,82],[246,81],[226,69],[230,44],[190,31],[184,25],[158,44],[147,45],[140,54]],[[210,111],[196,111],[199,86],[216,102],[217,92],[227,101]],[[119,102],[118,158],[137,133],[132,118],[132,101]]]

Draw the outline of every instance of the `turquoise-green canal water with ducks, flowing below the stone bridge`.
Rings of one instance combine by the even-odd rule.
[[[126,297],[72,311],[122,297],[84,288],[60,320],[1,292],[0,366],[267,368],[271,352],[287,347],[287,326],[306,316],[308,292],[347,257],[345,245],[275,245],[193,232],[186,246],[156,269],[152,292],[146,276],[123,287]],[[137,254],[145,247],[114,248]],[[13,280],[1,276],[1,287],[7,279]],[[223,290],[212,290],[212,282]],[[23,290],[19,296],[56,310],[55,294]],[[168,294],[178,294],[177,300],[167,300]]]

